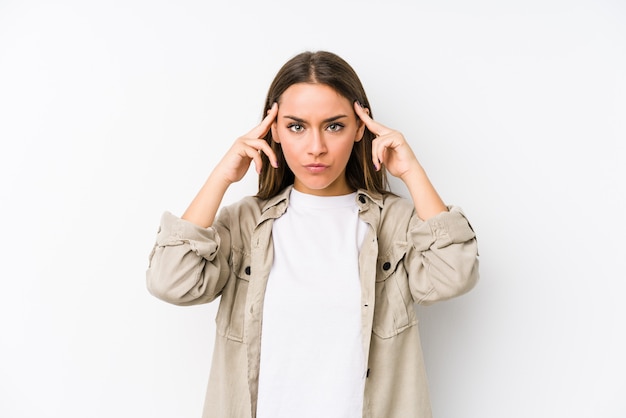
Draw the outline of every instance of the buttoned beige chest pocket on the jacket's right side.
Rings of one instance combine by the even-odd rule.
[[[380,338],[391,338],[417,324],[407,271],[408,244],[396,243],[376,262],[376,303],[372,330]]]

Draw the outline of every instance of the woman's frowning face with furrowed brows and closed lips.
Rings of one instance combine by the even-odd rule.
[[[365,125],[352,103],[323,84],[298,83],[278,102],[272,137],[295,175],[294,188],[318,196],[353,192],[346,165]]]

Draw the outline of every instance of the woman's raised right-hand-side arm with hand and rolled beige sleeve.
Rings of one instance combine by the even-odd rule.
[[[469,222],[458,208],[444,204],[404,136],[370,118],[355,103],[355,112],[377,138],[372,160],[407,186],[415,213],[408,225],[410,243],[405,268],[413,299],[432,303],[470,290],[478,280],[478,248]],[[404,233],[407,233],[406,231]]]

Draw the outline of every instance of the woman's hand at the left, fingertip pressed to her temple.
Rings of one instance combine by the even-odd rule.
[[[276,120],[277,114],[278,103],[274,103],[259,125],[244,136],[237,138],[213,170],[213,175],[219,176],[228,184],[238,182],[246,174],[252,161],[254,161],[256,172],[260,173],[263,165],[261,153],[269,158],[273,167],[278,167],[276,154],[263,139]]]

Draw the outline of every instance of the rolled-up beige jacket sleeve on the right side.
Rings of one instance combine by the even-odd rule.
[[[459,296],[479,278],[476,234],[460,208],[448,209],[427,221],[414,217],[409,225],[413,254],[406,263],[411,293],[418,303]]]

